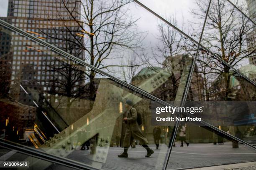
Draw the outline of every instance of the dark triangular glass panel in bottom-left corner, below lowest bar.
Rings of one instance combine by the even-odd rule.
[[[0,148],[0,162],[2,161],[26,161],[28,155],[24,155],[22,153],[18,153],[16,150],[7,150],[4,148]],[[73,168],[65,167],[63,165],[59,165],[56,163],[51,163],[46,160],[40,160],[38,158],[30,157],[29,167],[22,168],[22,169],[30,169],[30,170],[38,170],[41,169],[42,165],[48,165],[47,167],[43,168],[45,170],[74,170]],[[40,164],[38,162],[40,161]],[[15,169],[15,168],[8,168],[8,169]],[[18,168],[17,168],[18,169]]]

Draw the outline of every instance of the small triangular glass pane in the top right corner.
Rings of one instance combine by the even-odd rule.
[[[254,23],[256,23],[256,2],[255,0],[230,0],[245,15],[247,15]]]

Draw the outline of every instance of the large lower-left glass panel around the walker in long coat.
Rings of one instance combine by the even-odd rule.
[[[173,128],[159,127],[160,145],[156,150],[148,98],[15,32],[6,28],[1,28],[1,32],[6,39],[9,37],[9,46],[1,55],[1,64],[5,67],[1,72],[5,86],[0,97],[3,139],[95,168],[144,168],[145,164],[163,168]],[[15,45],[15,42],[21,44]],[[161,80],[164,73],[158,76]],[[128,150],[132,161],[118,158],[123,152],[120,145],[130,146],[131,142],[125,138],[130,124],[123,122],[124,117],[131,118],[131,114],[127,115],[130,110],[125,105],[130,103],[127,100],[142,120],[139,126],[133,113],[133,127],[140,138],[135,137],[131,143],[136,149]],[[150,161],[141,159],[147,151],[139,144],[146,143],[155,152],[148,158]],[[30,159],[26,158],[32,161]],[[48,166],[44,167],[41,161],[38,165]]]

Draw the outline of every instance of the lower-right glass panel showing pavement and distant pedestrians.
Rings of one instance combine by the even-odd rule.
[[[249,162],[255,161],[255,155],[256,151],[246,145],[214,133],[205,126],[189,123],[179,126],[168,169]]]

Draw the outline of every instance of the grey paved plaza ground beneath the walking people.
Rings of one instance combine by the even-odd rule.
[[[224,143],[224,145],[207,144],[189,144],[189,147],[179,147],[180,143],[176,143],[176,147],[173,148],[172,154],[169,160],[168,169],[183,169],[183,168],[196,168],[207,167],[213,165],[223,165],[230,163],[241,163],[256,160],[256,152],[240,144],[239,148],[232,148],[232,143]],[[159,150],[156,150],[154,145],[150,145],[154,150],[154,154],[150,158],[145,158],[146,150],[136,145],[136,148],[129,148],[128,158],[118,158],[117,155],[123,152],[123,148],[110,147],[105,163],[97,163],[93,160],[93,155],[90,154],[90,150],[74,150],[67,158],[76,160],[93,167],[101,168],[104,170],[161,170],[164,167],[164,160],[166,158],[167,147],[161,144]],[[97,149],[100,151],[101,148]],[[14,151],[8,152],[5,150],[1,152],[0,159],[12,160],[15,156]],[[22,158],[26,158],[19,156]],[[70,169],[60,165],[51,164],[49,170],[61,170]],[[247,170],[247,169],[244,169]],[[251,170],[251,169],[248,169]]]

